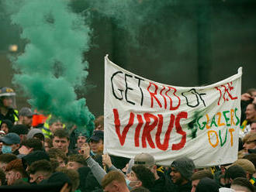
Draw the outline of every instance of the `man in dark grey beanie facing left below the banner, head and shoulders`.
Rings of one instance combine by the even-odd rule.
[[[192,190],[191,177],[195,170],[192,159],[182,157],[171,163],[171,181],[173,189],[171,191],[190,192]]]

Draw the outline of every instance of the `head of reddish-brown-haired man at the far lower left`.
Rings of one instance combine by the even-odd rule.
[[[12,160],[7,164],[5,177],[8,185],[12,185],[16,180],[26,177],[26,171],[22,166],[21,159]]]

